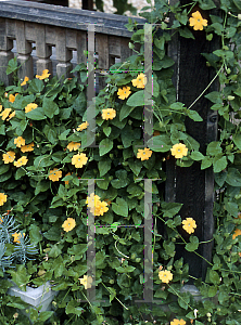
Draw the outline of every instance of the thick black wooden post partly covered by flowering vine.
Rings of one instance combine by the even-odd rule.
[[[175,4],[175,2],[177,1],[170,0],[170,4]],[[180,2],[181,4],[191,3],[190,0]],[[205,15],[204,17],[208,20],[210,24],[210,11],[204,12],[198,5],[192,9],[191,13],[194,11],[200,11]],[[212,53],[219,42],[219,39],[215,37],[212,42],[207,41],[204,30],[194,31],[191,28],[191,31],[195,39],[175,36],[176,39],[173,39],[168,49],[169,55],[175,61],[174,83],[177,90],[177,101],[185,103],[186,107],[194,102],[215,76],[214,69],[206,65],[206,60],[201,53]],[[214,90],[219,90],[217,81],[205,94]],[[204,155],[206,145],[217,138],[216,113],[211,110],[210,106],[211,102],[203,95],[191,108],[201,115],[203,121],[194,122],[190,118],[186,118],[187,132],[200,143],[200,152]],[[166,200],[183,204],[180,210],[181,219],[193,218],[195,220],[198,226],[194,235],[199,237],[200,242],[212,239],[214,231],[214,172],[212,167],[201,170],[201,164],[194,161],[191,167],[181,168],[176,166],[175,158],[170,157],[167,160],[166,172]],[[190,235],[181,226],[179,232],[186,240],[189,240]],[[177,243],[176,246],[176,259],[183,257],[185,263],[189,264],[189,274],[205,280],[208,263],[194,252],[187,251],[183,245]],[[212,240],[201,244],[198,252],[211,261],[212,247]]]

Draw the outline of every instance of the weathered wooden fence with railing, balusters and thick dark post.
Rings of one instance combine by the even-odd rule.
[[[170,0],[174,4],[176,0]],[[218,1],[217,1],[218,2]],[[190,3],[181,0],[182,4]],[[139,21],[143,22],[143,21]],[[60,8],[25,1],[0,2],[0,79],[10,83],[5,75],[8,61],[13,57],[13,40],[16,40],[16,56],[22,64],[20,77],[34,77],[33,43],[36,46],[37,74],[46,68],[52,73],[52,47],[55,47],[56,74],[69,74],[73,51],[77,51],[77,63],[86,62],[84,51],[87,50],[88,26],[94,25],[96,52],[99,55],[99,68],[109,69],[116,57],[124,61],[131,54],[128,42],[131,34],[124,27],[128,23],[125,16],[90,12],[84,10]],[[215,42],[205,39],[205,32],[193,31],[195,40],[176,36],[168,46],[168,54],[176,62],[174,83],[177,100],[188,107],[205,89],[214,76],[214,70],[206,66],[202,52],[212,52]],[[217,40],[218,42],[218,40]],[[217,43],[216,42],[216,43]],[[216,90],[213,83],[210,90]],[[208,90],[208,91],[210,91]],[[205,154],[206,144],[216,140],[216,113],[210,110],[211,103],[202,96],[192,109],[199,112],[203,121],[195,123],[187,118],[187,131],[201,144]],[[166,165],[167,202],[182,203],[181,217],[196,221],[196,235],[201,240],[213,237],[213,202],[214,174],[212,169],[201,170],[194,162],[189,168],[180,168],[170,158]],[[187,237],[187,234],[182,234]],[[178,246],[178,245],[177,245]],[[206,260],[212,259],[212,243],[200,245],[199,253]],[[190,265],[190,274],[205,277],[207,263],[193,252],[179,245],[177,257],[183,256]]]

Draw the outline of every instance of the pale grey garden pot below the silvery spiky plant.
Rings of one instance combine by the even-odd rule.
[[[8,295],[20,297],[23,301],[29,304],[29,308],[37,309],[39,306],[41,306],[41,312],[51,310],[52,300],[58,292],[59,291],[51,290],[51,284],[49,281],[45,285],[41,285],[37,288],[27,286],[26,291],[21,290],[15,284],[8,290]],[[29,317],[29,314],[26,312],[26,310],[21,310],[21,312]]]

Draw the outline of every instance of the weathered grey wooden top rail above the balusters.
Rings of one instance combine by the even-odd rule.
[[[88,24],[94,24],[97,32],[131,37],[125,27],[128,17],[120,15],[16,0],[0,1],[0,13],[2,17],[80,30],[88,30]],[[144,23],[142,18],[135,21]]]

